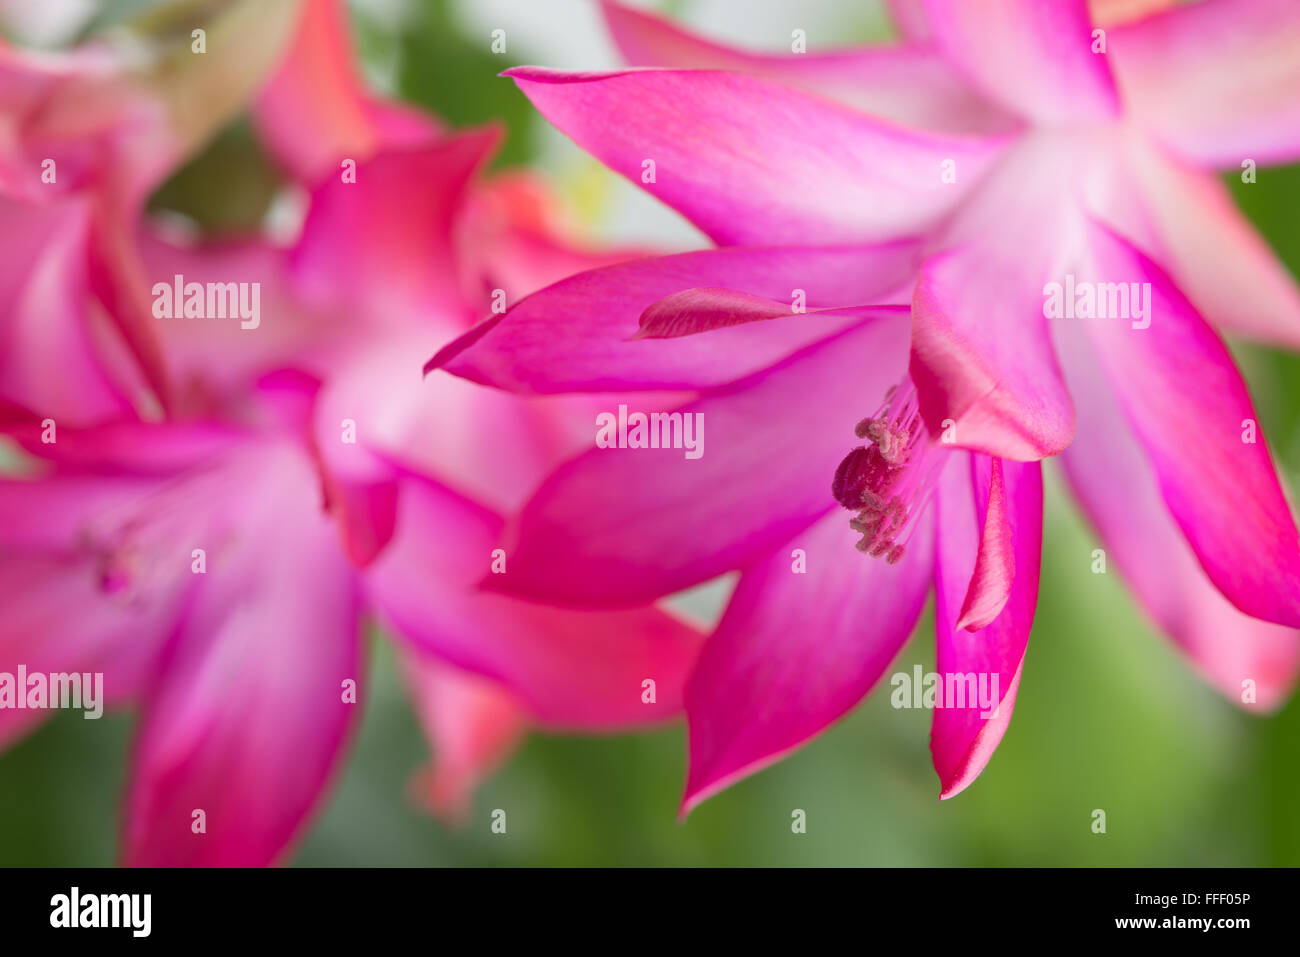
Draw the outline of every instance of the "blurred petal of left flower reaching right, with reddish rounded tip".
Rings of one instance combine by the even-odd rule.
[[[500,519],[430,482],[403,482],[400,521],[365,571],[368,594],[396,635],[504,687],[538,722],[614,729],[681,707],[699,632],[656,609],[578,612],[488,594]],[[514,573],[514,555],[506,554]],[[654,700],[646,700],[646,681]]]

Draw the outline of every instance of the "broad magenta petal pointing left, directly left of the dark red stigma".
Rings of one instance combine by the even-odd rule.
[[[836,467],[854,424],[901,377],[906,338],[905,320],[868,321],[682,407],[702,424],[698,458],[680,447],[580,455],[524,507],[510,573],[488,586],[632,605],[762,558],[836,507]]]

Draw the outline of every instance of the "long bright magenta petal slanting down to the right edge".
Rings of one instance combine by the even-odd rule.
[[[1158,267],[1101,226],[1089,235],[1079,280],[1149,283],[1147,317],[1056,324],[1095,345],[1210,580],[1245,614],[1300,625],[1300,534],[1231,355]]]

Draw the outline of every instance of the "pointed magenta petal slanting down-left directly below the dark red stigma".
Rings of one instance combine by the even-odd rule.
[[[930,593],[928,518],[894,566],[854,549],[848,518],[827,515],[741,576],[686,687],[682,814],[842,716],[911,635]]]

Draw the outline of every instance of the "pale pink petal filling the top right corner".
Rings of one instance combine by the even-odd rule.
[[[1110,33],[1124,107],[1192,163],[1300,159],[1300,4],[1179,4]]]

